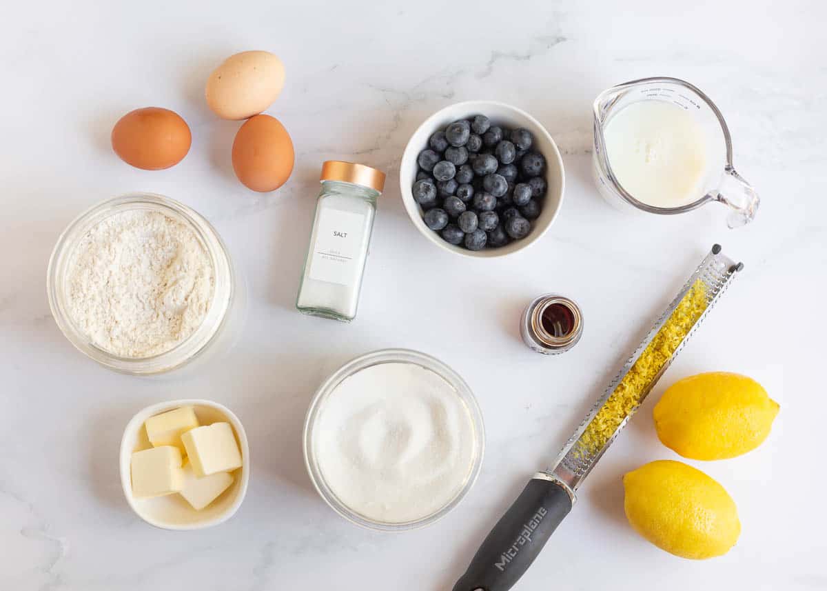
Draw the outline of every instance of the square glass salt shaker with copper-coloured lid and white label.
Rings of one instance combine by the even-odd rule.
[[[385,173],[353,162],[326,161],[321,180],[296,308],[350,322],[356,318]]]

